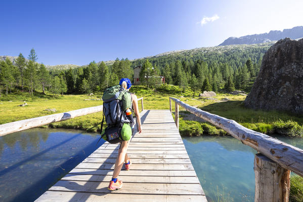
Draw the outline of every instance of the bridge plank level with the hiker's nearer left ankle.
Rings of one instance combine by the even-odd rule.
[[[95,182],[109,182],[111,180],[110,175],[75,175],[67,174],[61,180],[71,181],[95,181]],[[167,176],[123,176],[121,180],[124,182],[136,182],[136,183],[181,183],[182,184],[199,184],[199,180],[196,177],[167,177]]]

